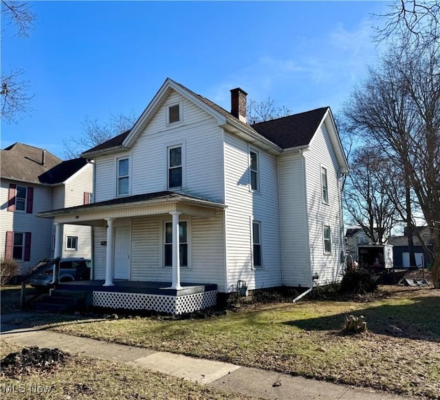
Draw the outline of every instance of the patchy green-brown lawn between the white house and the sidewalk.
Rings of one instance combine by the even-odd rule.
[[[391,298],[250,305],[222,317],[65,322],[52,329],[408,395],[440,397],[440,291]],[[343,335],[346,315],[369,332]]]

